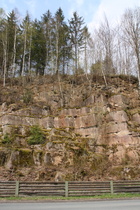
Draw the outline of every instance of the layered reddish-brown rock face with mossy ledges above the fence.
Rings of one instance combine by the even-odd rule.
[[[2,100],[6,90],[1,93],[0,179],[140,178],[140,100],[135,86],[112,85],[108,90],[93,84],[89,91],[89,85],[71,88],[64,83],[61,94],[57,87],[33,86],[28,104],[22,97],[8,104]],[[43,143],[29,143],[33,126],[40,128],[34,141],[42,132]]]

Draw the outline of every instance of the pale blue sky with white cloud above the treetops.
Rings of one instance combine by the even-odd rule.
[[[28,11],[32,20],[40,20],[48,9],[55,14],[61,7],[67,21],[77,11],[84,18],[90,32],[100,25],[104,15],[111,24],[116,24],[126,9],[137,6],[140,6],[140,0],[0,0],[0,8],[7,14],[16,8],[21,18]]]

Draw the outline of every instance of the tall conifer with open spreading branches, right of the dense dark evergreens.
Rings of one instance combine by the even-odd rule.
[[[73,17],[69,21],[69,25],[71,44],[74,49],[75,73],[77,74],[79,52],[84,44],[84,20],[77,14],[77,12],[74,12]]]

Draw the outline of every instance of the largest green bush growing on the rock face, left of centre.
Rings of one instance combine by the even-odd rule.
[[[46,141],[46,136],[38,125],[31,127],[27,143],[29,145],[43,144]]]

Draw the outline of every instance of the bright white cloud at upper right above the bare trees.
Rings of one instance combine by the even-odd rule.
[[[88,23],[90,32],[100,25],[100,22],[104,19],[104,15],[107,16],[111,24],[116,24],[127,8],[134,8],[135,6],[140,6],[139,0],[101,0],[97,11],[93,15],[92,21]]]

